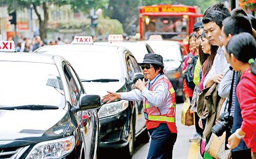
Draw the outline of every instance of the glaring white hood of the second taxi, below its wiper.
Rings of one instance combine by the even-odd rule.
[[[82,82],[82,84],[87,94],[95,94],[102,97],[108,94],[106,91],[117,92],[124,86],[125,82]]]

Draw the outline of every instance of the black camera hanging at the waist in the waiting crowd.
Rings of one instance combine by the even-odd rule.
[[[220,137],[223,132],[232,128],[232,124],[233,117],[229,116],[229,112],[224,112],[220,116],[219,122],[211,128],[211,132],[215,133],[217,137]]]

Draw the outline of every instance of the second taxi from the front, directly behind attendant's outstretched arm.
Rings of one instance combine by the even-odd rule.
[[[94,44],[92,37],[76,36],[72,44],[46,46],[34,53],[61,55],[69,60],[89,94],[129,92],[135,82],[144,78],[133,54],[123,47]],[[102,103],[98,110],[100,119],[99,148],[121,148],[132,156],[135,138],[150,136],[145,127],[143,105],[138,101],[119,100]]]

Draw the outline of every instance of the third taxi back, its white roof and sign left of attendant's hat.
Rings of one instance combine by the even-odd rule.
[[[145,54],[154,53],[151,47],[144,41],[123,41],[121,34],[111,34],[108,41],[96,41],[95,44],[124,47],[131,51],[138,62],[142,62]]]

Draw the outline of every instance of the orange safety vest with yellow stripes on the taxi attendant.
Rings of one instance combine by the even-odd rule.
[[[175,99],[175,90],[173,88],[172,83],[166,78],[159,79],[156,83],[152,85],[150,88],[150,91],[153,91],[153,88],[161,81],[164,81],[168,84],[168,90],[169,90],[169,96],[168,98],[172,98],[172,102],[170,105],[166,105],[168,107],[167,112],[162,112],[160,107],[156,107],[153,105],[150,105],[148,101],[144,98],[143,99],[143,106],[144,106],[144,116],[146,119],[146,128],[152,129],[156,128],[160,125],[160,123],[167,123],[168,128],[171,132],[177,133],[177,127],[175,124],[175,112],[176,112],[176,99]],[[148,86],[148,83],[147,85]],[[166,111],[166,107],[165,111]]]

